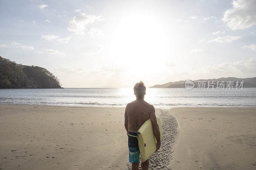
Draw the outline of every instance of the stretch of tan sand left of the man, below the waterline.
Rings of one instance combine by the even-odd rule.
[[[0,105],[0,135],[1,169],[126,169],[128,162],[124,108]]]

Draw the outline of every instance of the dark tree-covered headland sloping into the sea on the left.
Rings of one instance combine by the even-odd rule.
[[[17,64],[0,56],[0,88],[62,88],[59,79],[38,66]]]

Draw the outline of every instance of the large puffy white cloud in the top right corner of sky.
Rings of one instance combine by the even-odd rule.
[[[250,28],[256,25],[256,1],[234,0],[233,8],[226,10],[222,21],[232,30]]]

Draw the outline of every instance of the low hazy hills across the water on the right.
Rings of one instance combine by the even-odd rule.
[[[194,88],[197,88],[197,82],[198,81],[206,81],[205,82],[205,87],[208,86],[208,81],[210,81],[210,83],[215,83],[214,84],[214,88],[217,87],[217,84],[216,82],[217,81],[244,81],[244,84],[243,84],[243,88],[256,88],[256,77],[254,78],[235,78],[235,77],[228,77],[228,78],[213,78],[213,79],[199,79],[199,80],[192,80],[195,84]],[[226,87],[226,85],[225,85]],[[169,83],[166,83],[166,84],[163,84],[163,85],[154,85],[150,88],[185,88],[185,81],[176,81],[176,82],[169,82]]]

